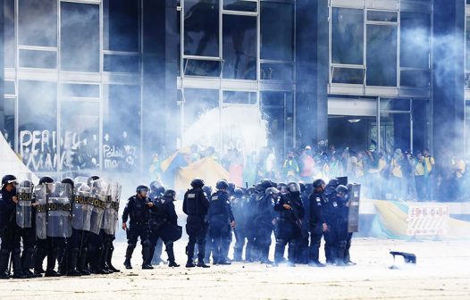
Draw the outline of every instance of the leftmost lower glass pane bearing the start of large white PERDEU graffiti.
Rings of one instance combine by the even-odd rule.
[[[31,171],[56,171],[57,84],[18,82],[19,150]]]

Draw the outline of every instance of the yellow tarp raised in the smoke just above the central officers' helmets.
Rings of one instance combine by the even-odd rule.
[[[174,187],[177,190],[185,191],[190,188],[191,180],[195,178],[204,179],[206,185],[214,189],[218,180],[229,179],[229,172],[225,171],[213,158],[205,157],[181,168],[175,176]]]

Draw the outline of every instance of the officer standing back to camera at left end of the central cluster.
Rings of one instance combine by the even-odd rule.
[[[188,215],[186,223],[186,232],[189,236],[188,246],[186,246],[186,254],[188,255],[187,268],[195,267],[193,257],[194,248],[197,243],[197,266],[208,268],[204,262],[206,251],[206,234],[207,221],[206,214],[209,209],[209,201],[206,198],[202,187],[204,181],[202,179],[193,179],[191,181],[191,189],[184,194],[183,212]]]

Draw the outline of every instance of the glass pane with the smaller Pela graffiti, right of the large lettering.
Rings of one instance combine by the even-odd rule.
[[[103,168],[135,171],[140,149],[140,87],[110,85],[104,112]]]

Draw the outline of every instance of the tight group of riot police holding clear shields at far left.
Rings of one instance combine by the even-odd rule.
[[[30,174],[21,175],[2,179],[0,279],[119,271],[112,263],[118,183],[97,176],[55,182],[46,176],[34,185]]]

